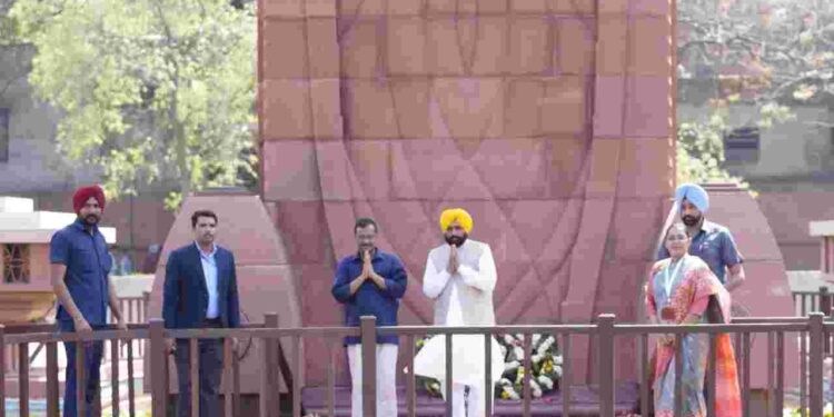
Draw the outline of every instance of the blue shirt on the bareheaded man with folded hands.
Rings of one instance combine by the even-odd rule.
[[[375,316],[377,326],[397,326],[399,299],[406,294],[407,276],[403,261],[396,255],[376,250],[370,259],[374,270],[385,279],[385,289],[380,289],[371,279],[367,279],[359,289],[350,295],[350,282],[363,271],[363,259],[358,255],[345,257],[336,267],[336,279],[332,295],[345,305],[345,326],[359,326],[361,316]],[[346,337],[346,345],[357,345],[358,337]],[[377,336],[378,344],[398,345],[395,335]]]

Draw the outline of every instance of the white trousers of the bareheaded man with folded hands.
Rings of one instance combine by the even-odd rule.
[[[350,410],[353,417],[363,417],[363,355],[361,345],[348,345],[350,363]],[[397,354],[399,347],[377,345],[377,416],[397,416]]]

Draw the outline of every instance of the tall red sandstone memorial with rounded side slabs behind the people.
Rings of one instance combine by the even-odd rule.
[[[674,22],[673,0],[260,0],[260,195],[186,199],[149,317],[159,316],[168,252],[191,238],[190,212],[211,208],[218,242],[237,257],[249,322],[274,311],[281,327],[340,326],[336,261],[355,251],[355,218],[370,216],[380,247],[408,269],[400,324],[430,324],[426,255],[440,211],[464,207],[473,236],[494,251],[499,325],[642,321],[675,187]],[[733,229],[746,258],[736,311],[792,316],[756,201],[733,186],[708,189],[708,217]],[[292,379],[307,394],[327,386],[330,369],[349,386],[338,340],[321,340],[285,349],[302,358]],[[241,391],[257,395],[262,351],[242,345]],[[574,338],[573,384],[597,383],[596,345]],[[785,349],[793,386],[795,339]],[[617,380],[638,380],[636,351],[632,339],[617,342]],[[765,360],[767,338],[754,337],[752,351],[754,364]],[[749,388],[767,388],[768,369],[751,370]],[[146,389],[156,381],[146,378]]]

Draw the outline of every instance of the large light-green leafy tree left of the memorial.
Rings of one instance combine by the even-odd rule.
[[[255,14],[228,0],[17,0],[29,81],[61,111],[58,149],[108,195],[167,199],[255,176]]]

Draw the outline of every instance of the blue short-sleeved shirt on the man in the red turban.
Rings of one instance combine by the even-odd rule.
[[[107,324],[108,279],[112,259],[107,251],[105,236],[97,226],[92,234],[85,229],[85,221],[56,231],[49,242],[49,261],[67,267],[63,282],[72,301],[90,326]],[[72,321],[72,317],[61,305],[58,306],[59,321]]]

